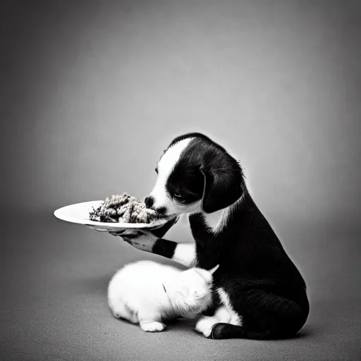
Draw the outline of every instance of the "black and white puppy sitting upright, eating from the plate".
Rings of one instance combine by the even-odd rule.
[[[305,281],[252,200],[243,171],[220,145],[200,133],[176,137],[157,163],[157,183],[145,199],[166,216],[189,214],[195,243],[175,243],[158,230],[121,237],[140,250],[187,267],[211,269],[214,310],[196,331],[208,338],[287,338],[309,313]]]

